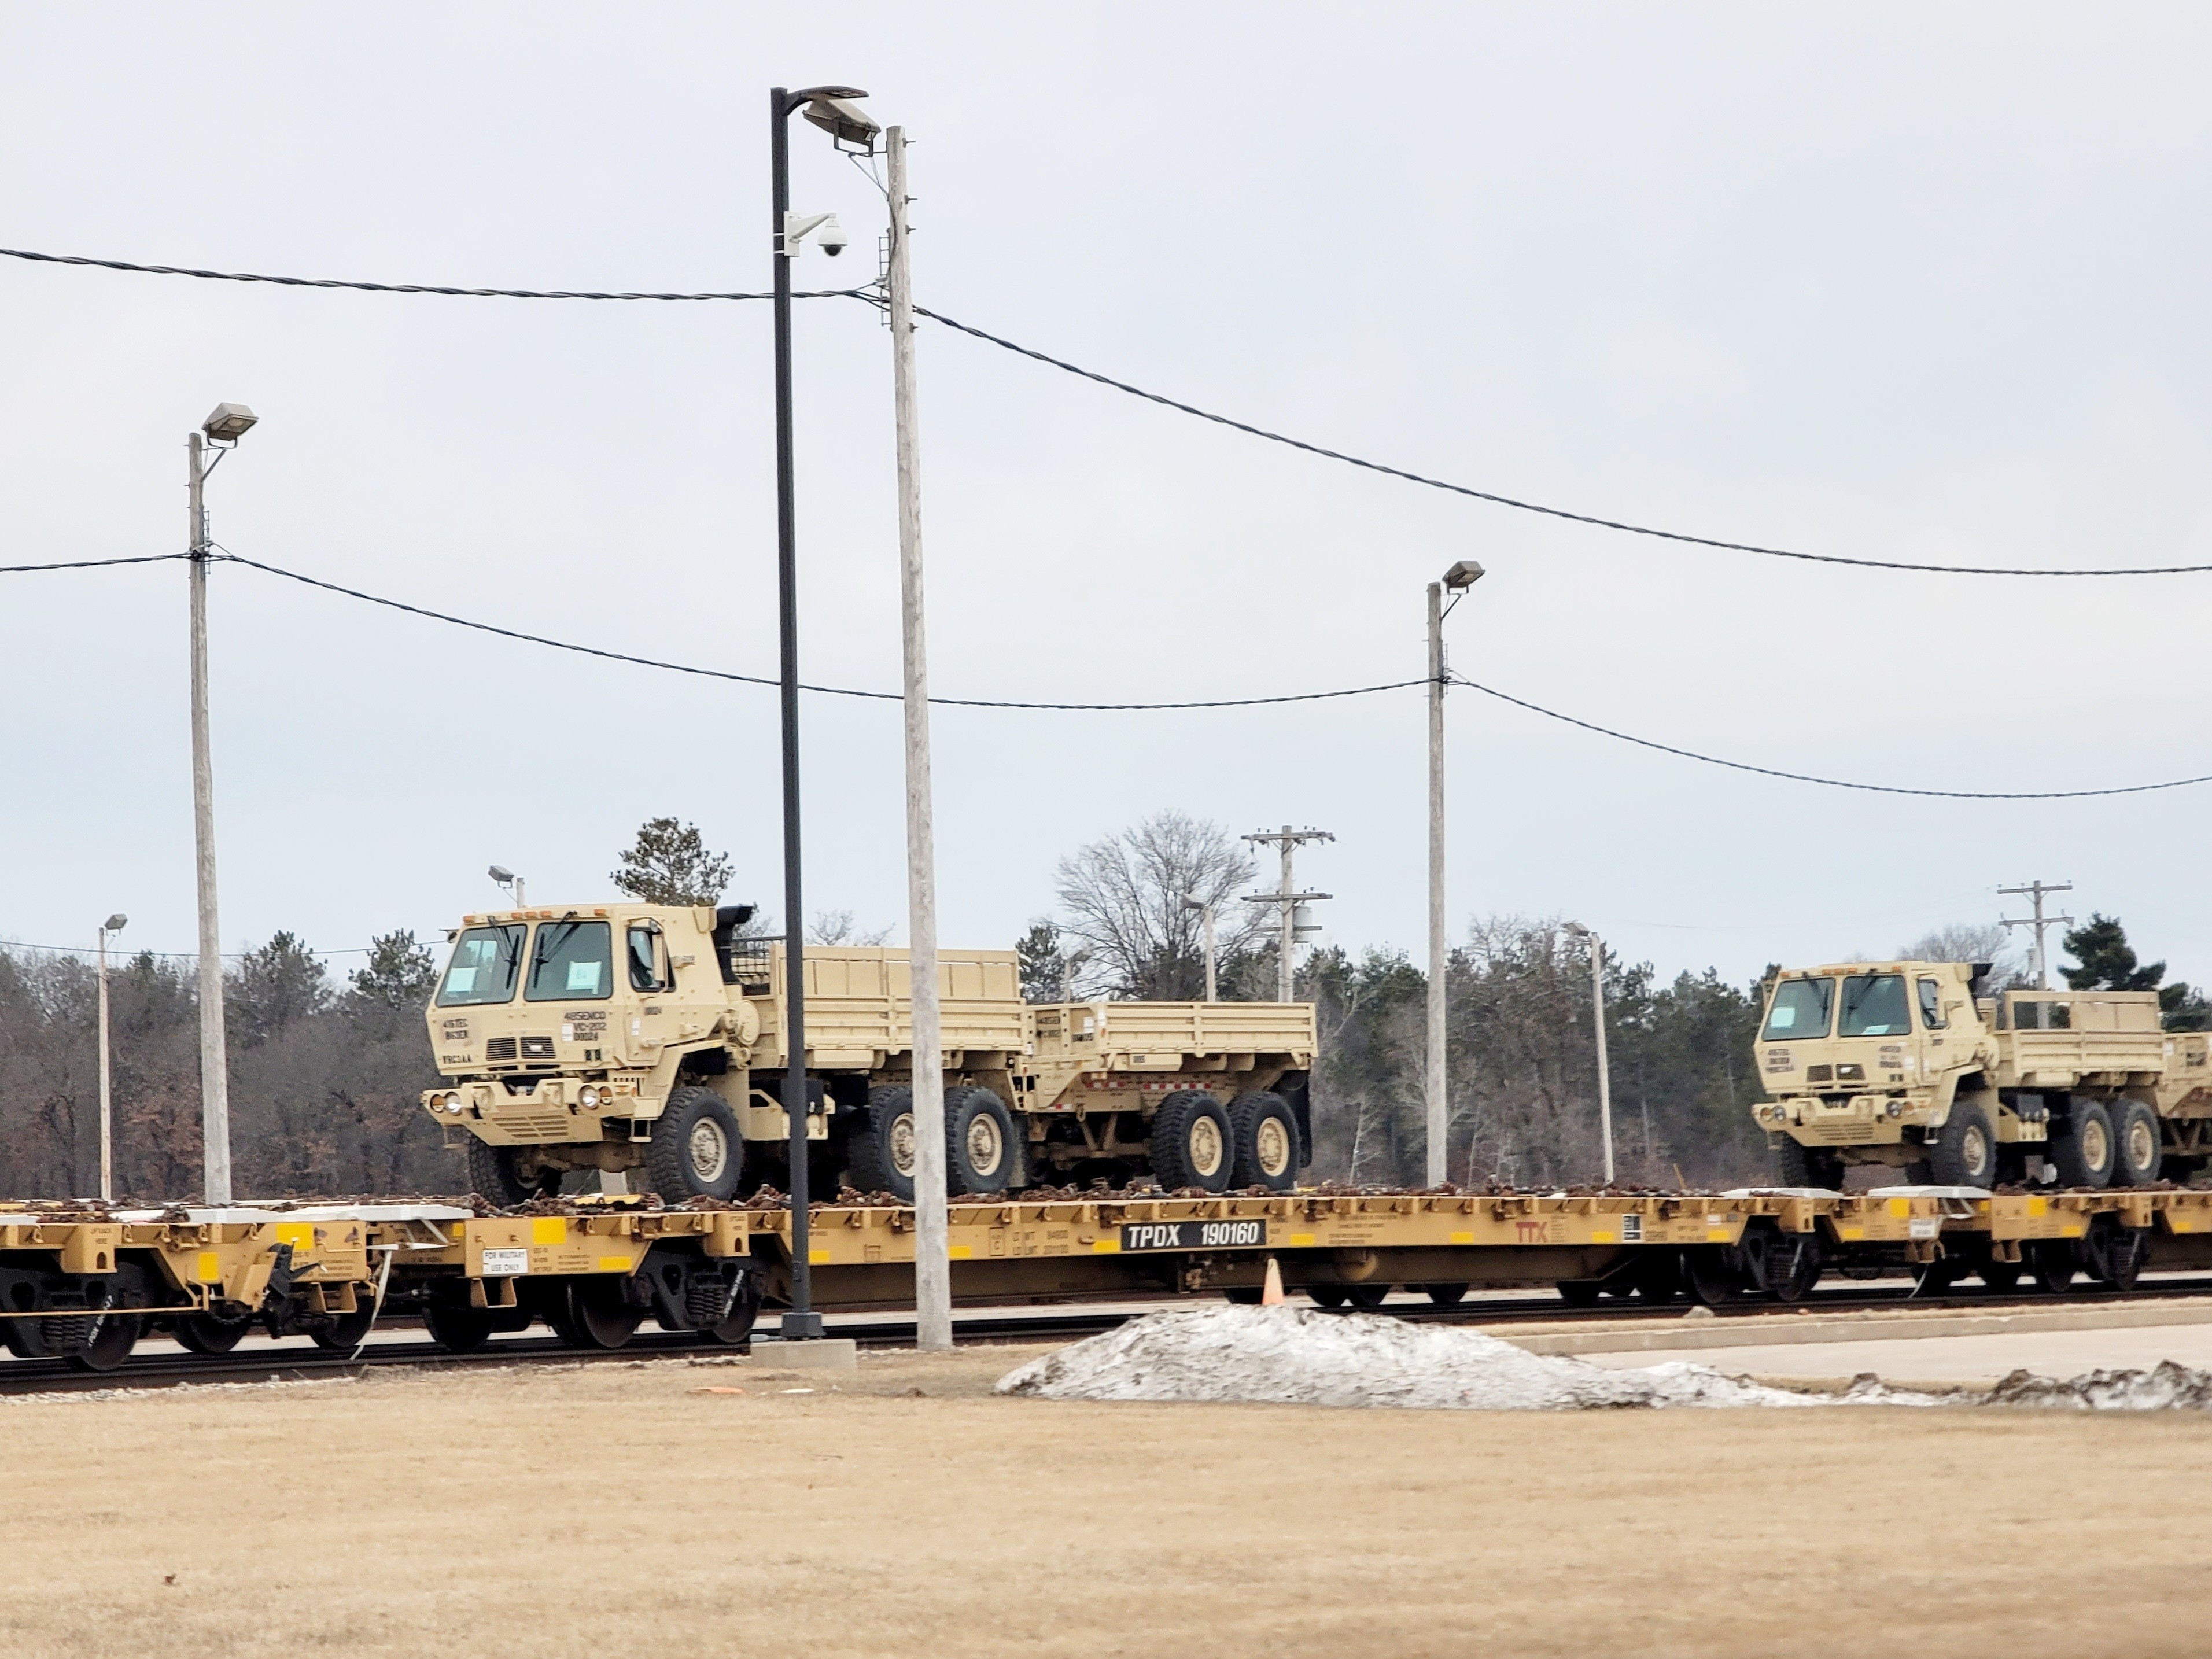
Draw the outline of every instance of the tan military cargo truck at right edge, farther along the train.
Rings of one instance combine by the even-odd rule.
[[[2161,1031],[2154,991],[2004,991],[1975,964],[1845,962],[1774,982],[1754,1108],[1787,1186],[1851,1164],[1909,1181],[2141,1186],[2212,1157],[2201,1031]]]

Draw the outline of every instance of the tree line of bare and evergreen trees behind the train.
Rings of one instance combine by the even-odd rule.
[[[697,827],[653,818],[611,878],[633,898],[710,905],[732,865]],[[1018,940],[1031,1002],[1064,995],[1197,1000],[1203,907],[1214,911],[1219,995],[1276,995],[1279,936],[1256,878],[1223,827],[1177,812],[1060,863],[1057,907]],[[774,931],[759,916],[752,931]],[[818,942],[880,942],[852,914],[816,916]],[[2201,1029],[2212,1006],[2166,964],[2137,960],[2117,918],[2066,933],[2073,989],[2159,991],[2166,1024]],[[1878,953],[1863,953],[1878,956]],[[1896,951],[1993,962],[1989,984],[2024,984],[2002,927],[1949,927]],[[1772,973],[1772,969],[1770,969]],[[434,951],[407,931],[374,940],[343,978],[292,933],[223,973],[234,1186],[250,1194],[456,1192],[460,1155],[420,1110],[438,1084],[422,1006]],[[1608,960],[1606,1046],[1617,1179],[1736,1186],[1772,1179],[1750,1108],[1763,1097],[1752,1042],[1763,982],[1712,969],[1661,973]],[[1314,1002],[1310,1179],[1416,1186],[1427,1168],[1427,973],[1402,951],[1312,949],[1296,993]],[[199,1004],[190,960],[137,953],[111,969],[115,1190],[199,1190]],[[1480,918],[1451,949],[1447,1170],[1462,1186],[1548,1188],[1604,1166],[1590,960],[1557,918]],[[0,1194],[97,1192],[97,984],[88,960],[0,947]]]

